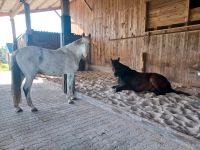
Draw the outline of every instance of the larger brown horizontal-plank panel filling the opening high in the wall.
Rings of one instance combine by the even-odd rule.
[[[186,0],[158,0],[148,4],[148,28],[185,23]]]

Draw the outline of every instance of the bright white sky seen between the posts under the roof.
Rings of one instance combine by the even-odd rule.
[[[18,37],[26,30],[25,16],[17,15],[14,19]],[[36,31],[61,32],[61,20],[54,11],[31,13],[31,28]],[[10,17],[0,17],[0,46],[5,46],[5,43],[12,43],[12,41]]]

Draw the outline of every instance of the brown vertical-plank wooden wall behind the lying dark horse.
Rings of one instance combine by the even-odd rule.
[[[190,69],[200,64],[199,30],[153,35],[145,32],[146,0],[86,1],[92,10],[84,0],[73,0],[70,13],[72,32],[92,35],[92,65],[110,66],[110,58],[120,57],[123,63],[141,71],[142,53],[146,52],[146,71],[200,86],[200,77]]]

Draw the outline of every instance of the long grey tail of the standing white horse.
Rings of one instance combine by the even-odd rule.
[[[16,53],[12,55],[11,75],[12,75],[11,92],[13,97],[13,103],[14,106],[17,107],[18,104],[21,102],[21,84],[24,76],[17,64]]]

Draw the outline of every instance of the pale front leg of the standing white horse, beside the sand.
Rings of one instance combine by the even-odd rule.
[[[75,76],[74,73],[68,73],[67,74],[67,99],[69,104],[74,103],[74,89],[75,89]]]

